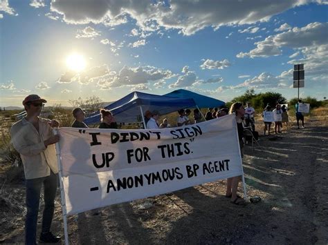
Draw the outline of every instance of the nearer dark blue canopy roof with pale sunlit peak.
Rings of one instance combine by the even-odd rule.
[[[158,110],[161,115],[165,115],[181,108],[194,107],[196,104],[191,98],[181,99],[136,91],[106,106],[105,109],[111,111],[117,122],[136,122],[142,121],[140,117],[140,106],[143,108],[144,115],[146,110]],[[100,113],[97,112],[86,118],[84,123],[100,123]]]

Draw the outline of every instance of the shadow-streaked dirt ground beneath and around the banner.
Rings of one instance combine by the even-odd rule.
[[[224,197],[226,181],[211,182],[70,216],[69,241],[327,244],[328,126],[315,122],[306,126],[277,136],[261,136],[260,147],[246,146],[247,194],[262,197],[261,202],[236,206]],[[6,184],[3,179],[2,176],[0,242],[20,244],[24,242],[24,184]],[[239,192],[242,193],[241,184]],[[53,231],[63,235],[61,214],[58,193]]]

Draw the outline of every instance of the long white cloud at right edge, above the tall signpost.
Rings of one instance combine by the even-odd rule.
[[[281,55],[280,48],[305,48],[327,44],[328,23],[309,23],[303,28],[292,28],[277,35],[268,36],[264,41],[255,43],[257,48],[250,52],[239,52],[238,58],[269,57]]]

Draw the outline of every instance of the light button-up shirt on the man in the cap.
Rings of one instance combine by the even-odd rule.
[[[12,125],[11,141],[19,152],[26,179],[35,179],[58,173],[55,144],[44,146],[44,141],[53,136],[50,120],[39,117],[39,132],[25,118]]]

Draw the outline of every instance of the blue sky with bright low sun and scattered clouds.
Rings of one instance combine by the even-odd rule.
[[[0,0],[0,106],[186,89],[327,97],[325,0]]]

